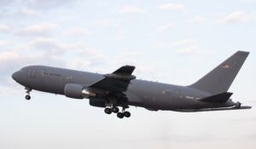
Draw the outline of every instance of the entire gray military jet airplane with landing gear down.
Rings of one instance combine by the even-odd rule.
[[[231,83],[247,59],[249,52],[237,51],[229,59],[189,86],[177,86],[138,80],[132,75],[135,66],[122,66],[113,73],[79,72],[50,66],[26,66],[12,77],[25,86],[26,100],[32,89],[89,99],[90,106],[105,108],[107,114],[130,117],[129,106],[151,111],[205,112],[250,109],[230,99]],[[119,106],[122,111],[119,112]]]

